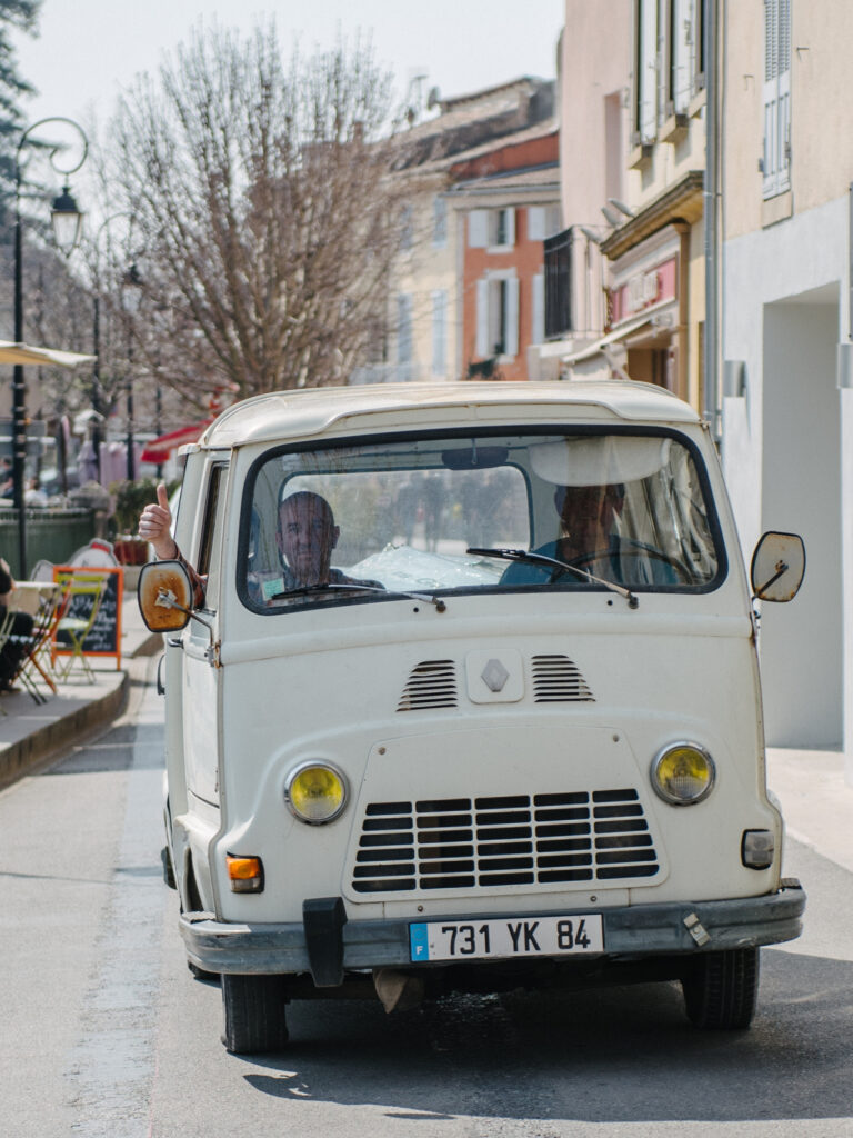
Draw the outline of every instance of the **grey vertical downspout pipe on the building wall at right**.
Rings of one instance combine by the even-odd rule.
[[[705,343],[703,415],[714,442],[720,444],[719,409],[719,203],[720,203],[720,116],[719,116],[719,3],[705,0],[705,179],[703,187],[705,228]]]

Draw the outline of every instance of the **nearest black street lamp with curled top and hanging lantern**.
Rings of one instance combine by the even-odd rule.
[[[80,162],[71,166],[68,170],[63,170],[56,164],[56,156],[64,149],[61,145],[51,145],[49,149],[50,164],[58,173],[64,174],[66,178],[66,183],[63,192],[53,201],[53,207],[51,209],[51,221],[53,224],[53,234],[57,245],[61,251],[68,256],[76,245],[80,237],[80,226],[82,223],[82,214],[77,208],[77,204],[72,197],[71,188],[68,185],[68,175],[76,173],[80,167],[85,162],[86,152],[89,150],[89,140],[86,139],[82,127],[80,127],[73,119],[64,117],[55,118],[41,118],[38,123],[33,123],[28,126],[24,133],[20,135],[20,141],[18,142],[17,149],[15,151],[15,343],[24,343],[24,283],[23,283],[23,244],[22,244],[22,222],[20,222],[20,183],[23,180],[23,167],[20,162],[20,155],[24,147],[30,139],[30,135],[39,126],[44,126],[48,123],[66,123],[73,126],[75,131],[80,134],[83,141],[83,154]],[[13,382],[11,382],[11,395],[13,395],[13,480],[14,489],[13,496],[15,502],[15,509],[18,513],[18,572],[22,577],[26,577],[26,511],[24,509],[24,470],[26,463],[26,382],[24,380],[24,368],[22,364],[16,363],[13,371]]]

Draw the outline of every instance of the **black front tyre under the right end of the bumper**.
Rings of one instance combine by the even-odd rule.
[[[759,996],[757,948],[703,953],[682,978],[681,988],[694,1026],[712,1031],[748,1028]]]

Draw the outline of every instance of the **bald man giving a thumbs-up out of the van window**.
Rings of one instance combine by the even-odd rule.
[[[189,564],[172,537],[172,511],[163,483],[157,487],[157,502],[149,503],[139,519],[139,536],[154,546],[159,560],[176,559],[185,567],[193,586],[193,605],[204,604],[206,580]],[[267,604],[279,593],[316,585],[353,585],[382,588],[379,582],[356,580],[340,569],[331,568],[332,550],[340,529],[334,523],[332,508],[318,494],[299,490],[279,505],[276,544],[282,558],[282,571],[255,575],[249,579],[249,595],[258,604]]]

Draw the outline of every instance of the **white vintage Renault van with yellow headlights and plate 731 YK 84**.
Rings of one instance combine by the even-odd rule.
[[[300,492],[334,516],[320,583],[279,535]],[[179,561],[140,579],[164,855],[230,1050],[280,1048],[293,999],[613,980],[750,1024],[759,949],[805,905],[754,597],[805,559],[765,535],[751,591],[689,406],[620,381],[259,396],[189,448],[176,539],[202,605]]]

